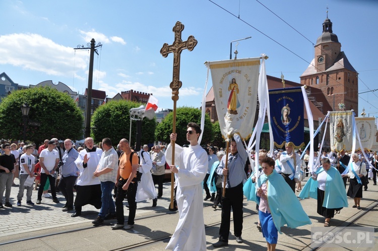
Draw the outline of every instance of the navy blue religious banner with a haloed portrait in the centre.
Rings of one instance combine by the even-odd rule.
[[[274,144],[282,148],[292,142],[304,146],[304,109],[301,87],[269,90],[270,117]]]

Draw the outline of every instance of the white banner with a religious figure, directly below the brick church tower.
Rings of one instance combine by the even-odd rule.
[[[352,151],[353,147],[353,111],[330,112],[331,151]]]

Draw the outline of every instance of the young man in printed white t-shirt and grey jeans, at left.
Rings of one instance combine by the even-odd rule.
[[[33,194],[33,183],[30,186],[25,186],[24,183],[28,177],[34,178],[35,157],[32,155],[34,148],[33,145],[24,146],[26,153],[20,157],[20,186],[17,195],[17,206],[21,207],[22,197],[24,197],[24,190],[26,189],[26,204],[34,206],[31,201]]]

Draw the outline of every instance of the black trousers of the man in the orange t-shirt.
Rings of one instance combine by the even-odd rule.
[[[135,200],[137,196],[137,188],[138,183],[131,182],[129,184],[128,190],[123,190],[122,186],[127,182],[127,180],[118,180],[117,184],[117,196],[115,197],[115,206],[116,215],[117,215],[117,223],[123,225],[124,224],[124,213],[123,213],[123,200],[126,195],[128,195],[128,203],[129,203],[129,218],[128,218],[128,225],[134,225],[135,214],[137,212],[137,202]]]

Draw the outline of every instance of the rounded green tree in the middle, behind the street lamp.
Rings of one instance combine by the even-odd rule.
[[[91,136],[95,142],[102,141],[103,138],[109,138],[113,145],[125,138],[129,139],[130,135],[130,109],[141,106],[142,103],[136,103],[129,100],[112,100],[104,105],[99,106],[92,115]],[[154,142],[154,133],[156,128],[156,119],[142,120],[142,142],[148,144]],[[132,121],[131,144],[134,146],[137,134],[137,121]]]

